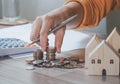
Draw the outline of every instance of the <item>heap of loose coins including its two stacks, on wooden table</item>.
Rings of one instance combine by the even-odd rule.
[[[68,58],[59,58],[56,59],[56,49],[54,47],[48,47],[46,50],[46,59],[43,59],[44,55],[41,49],[37,49],[33,53],[33,60],[31,59],[30,63],[37,67],[46,67],[46,68],[83,68],[83,60],[79,60],[77,57],[68,57]],[[29,62],[28,62],[29,63]],[[30,64],[29,63],[29,64]]]

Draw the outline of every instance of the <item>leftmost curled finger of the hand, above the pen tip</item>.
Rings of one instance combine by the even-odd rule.
[[[41,27],[42,27],[42,18],[39,16],[33,22],[32,31],[31,31],[31,35],[30,35],[30,40],[33,41],[40,36]]]

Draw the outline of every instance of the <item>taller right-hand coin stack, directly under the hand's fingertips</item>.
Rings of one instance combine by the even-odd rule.
[[[55,53],[56,53],[56,49],[55,47],[48,47],[47,48],[47,53],[46,53],[46,60],[55,60]]]

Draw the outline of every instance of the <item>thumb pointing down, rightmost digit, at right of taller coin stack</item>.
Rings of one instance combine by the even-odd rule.
[[[55,32],[55,47],[58,53],[61,53],[61,46],[62,46],[64,34],[65,34],[65,29],[66,27],[61,28],[60,30]]]

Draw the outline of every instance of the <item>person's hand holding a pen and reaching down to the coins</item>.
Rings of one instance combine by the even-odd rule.
[[[71,8],[76,7],[76,5],[78,7],[80,6],[76,2],[71,2],[71,4],[68,4],[68,5],[65,5],[56,10],[53,10],[43,16],[37,17],[32,26],[31,40],[40,38],[40,42],[38,44],[41,46],[43,51],[46,51],[46,47],[49,44],[48,43],[49,30],[52,27],[55,27],[59,23],[63,22],[67,18],[69,18],[75,14],[79,15],[78,11],[76,11],[76,10],[75,11],[72,10],[73,12],[71,13]],[[72,25],[72,27],[75,27],[76,26],[75,24],[78,25],[78,23],[76,23],[78,21],[79,20],[76,19],[73,22],[71,22],[70,24]],[[62,46],[64,34],[65,34],[65,29],[66,29],[66,26],[64,26],[64,28],[61,28],[60,30],[57,30],[56,32],[54,32],[55,47],[56,47],[58,53],[61,52],[61,46]]]

